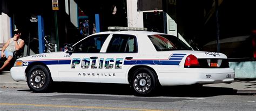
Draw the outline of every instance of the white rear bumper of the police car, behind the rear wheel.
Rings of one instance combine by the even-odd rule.
[[[161,72],[158,79],[162,86],[232,83],[235,76],[234,70],[229,68],[221,70]]]

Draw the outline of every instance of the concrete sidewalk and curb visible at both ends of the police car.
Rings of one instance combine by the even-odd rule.
[[[238,94],[256,94],[256,78],[235,78],[231,84],[207,84],[204,87],[225,87],[237,90]],[[26,82],[15,82],[11,78],[10,71],[3,71],[0,74],[0,87],[28,88]]]

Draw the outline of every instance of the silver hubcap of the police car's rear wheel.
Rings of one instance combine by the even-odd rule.
[[[151,87],[151,78],[147,73],[139,73],[135,77],[133,85],[138,92],[146,92]]]

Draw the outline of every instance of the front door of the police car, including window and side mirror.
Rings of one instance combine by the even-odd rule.
[[[60,80],[65,82],[98,82],[97,65],[100,49],[109,34],[89,36],[73,46],[63,57],[70,64],[59,65]]]

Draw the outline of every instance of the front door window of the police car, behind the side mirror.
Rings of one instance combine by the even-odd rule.
[[[99,53],[109,34],[93,35],[80,41],[74,47],[74,53]]]

